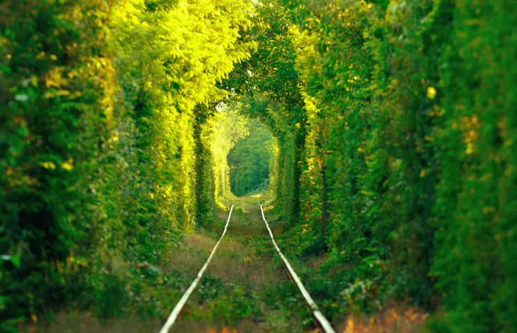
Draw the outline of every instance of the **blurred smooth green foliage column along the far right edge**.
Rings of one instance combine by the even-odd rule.
[[[432,274],[447,312],[437,331],[517,328],[516,9],[511,1],[458,3],[440,59]]]

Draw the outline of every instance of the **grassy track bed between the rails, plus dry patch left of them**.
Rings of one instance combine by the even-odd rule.
[[[226,218],[221,212],[220,224],[189,235],[172,255],[172,268],[194,279]],[[283,224],[272,228],[280,233]],[[311,323],[312,314],[288,279],[256,204],[234,208],[225,238],[172,332],[304,332],[314,330]]]

